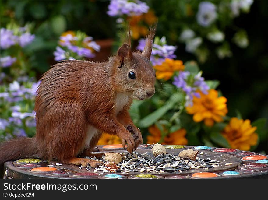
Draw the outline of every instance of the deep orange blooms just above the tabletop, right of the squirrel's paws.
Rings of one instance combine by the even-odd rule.
[[[147,136],[147,143],[156,144],[161,139],[161,131],[156,125],[150,126],[148,128],[150,135]],[[161,144],[175,144],[175,145],[186,145],[188,143],[185,138],[186,130],[184,128],[179,129],[175,132],[170,133],[164,137],[164,141]]]

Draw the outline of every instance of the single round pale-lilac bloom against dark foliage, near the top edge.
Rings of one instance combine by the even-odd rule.
[[[216,6],[210,2],[199,3],[199,9],[196,14],[197,23],[207,27],[217,18]]]

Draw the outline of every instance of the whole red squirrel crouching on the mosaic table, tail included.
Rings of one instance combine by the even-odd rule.
[[[147,99],[155,92],[150,65],[155,31],[156,26],[150,28],[142,53],[132,52],[125,43],[108,62],[67,60],[53,65],[37,89],[36,135],[2,143],[0,164],[38,157],[97,167],[103,163],[77,156],[88,155],[103,132],[117,135],[130,153],[134,151],[143,139],[128,109],[132,99]]]

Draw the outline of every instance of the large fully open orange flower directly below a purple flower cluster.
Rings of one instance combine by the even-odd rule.
[[[193,114],[195,122],[203,121],[206,126],[213,126],[214,121],[223,121],[223,116],[228,112],[224,96],[218,97],[218,92],[215,89],[210,89],[208,94],[200,93],[200,98],[194,96],[193,106],[186,107],[189,114]]]

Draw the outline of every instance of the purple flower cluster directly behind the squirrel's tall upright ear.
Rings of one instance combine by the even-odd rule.
[[[145,43],[145,39],[140,39],[137,49],[143,51]],[[154,43],[152,46],[152,54],[150,58],[152,65],[161,65],[165,58],[176,58],[176,55],[174,54],[176,49],[176,46],[167,45],[166,38],[162,37],[159,44]]]

